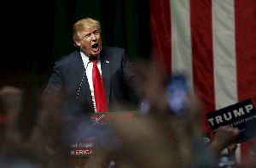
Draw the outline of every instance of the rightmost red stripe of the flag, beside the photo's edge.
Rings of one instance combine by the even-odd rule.
[[[236,68],[238,101],[252,98],[256,106],[256,14],[254,0],[236,0]],[[241,143],[241,159],[248,154]]]

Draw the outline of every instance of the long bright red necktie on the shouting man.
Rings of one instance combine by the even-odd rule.
[[[108,112],[108,104],[103,87],[101,73],[96,65],[96,59],[92,59],[92,81],[94,88],[94,98],[96,102],[96,112]]]

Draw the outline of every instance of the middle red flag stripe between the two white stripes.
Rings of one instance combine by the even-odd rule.
[[[201,98],[203,106],[202,118],[205,131],[212,133],[206,118],[207,113],[215,110],[212,51],[212,1],[191,0],[190,20],[193,86],[195,92]]]

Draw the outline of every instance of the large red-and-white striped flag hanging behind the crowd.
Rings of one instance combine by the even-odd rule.
[[[256,106],[255,0],[150,0],[150,25],[153,59],[189,76],[205,132],[207,113],[247,98]],[[248,146],[238,147],[241,160]]]

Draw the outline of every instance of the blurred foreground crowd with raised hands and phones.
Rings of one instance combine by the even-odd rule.
[[[135,67],[144,79],[143,107],[138,107],[134,122],[124,118],[111,120],[106,129],[90,126],[84,109],[67,107],[61,94],[40,102],[40,92],[27,96],[22,87],[3,86],[0,90],[0,167],[6,168],[170,168],[170,167],[255,167],[255,144],[246,160],[218,165],[219,156],[227,148],[236,153],[239,130],[221,126],[211,143],[203,141],[201,103],[190,90],[186,91],[186,106],[182,116],[170,109],[166,92],[166,76],[150,62],[137,62]],[[27,89],[27,88],[26,88]],[[24,99],[26,98],[26,101]],[[35,98],[37,101],[35,101]],[[31,101],[29,101],[31,99]],[[32,104],[25,104],[31,102]],[[34,107],[36,105],[36,108]],[[32,107],[27,107],[32,106]],[[26,110],[31,115],[24,115]],[[66,115],[73,110],[73,115]],[[29,113],[31,114],[31,113]],[[24,117],[26,116],[26,117]],[[33,122],[31,121],[33,120]],[[30,122],[30,123],[26,123]],[[21,129],[24,124],[25,128]],[[94,154],[84,163],[75,165],[70,155],[74,130],[84,126],[84,135],[94,132],[104,143],[96,142]],[[107,126],[106,126],[107,127]],[[72,131],[71,131],[72,130]],[[79,131],[78,131],[79,132]],[[76,132],[76,133],[78,133]]]

